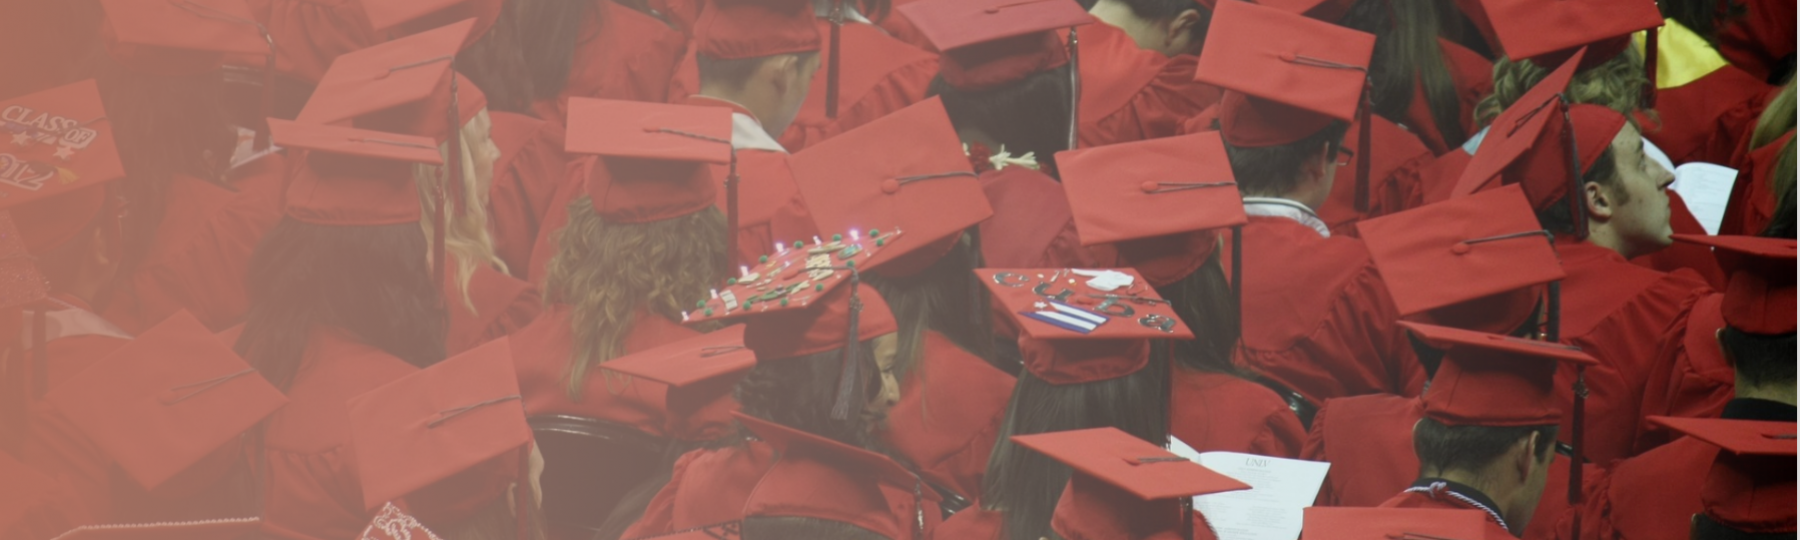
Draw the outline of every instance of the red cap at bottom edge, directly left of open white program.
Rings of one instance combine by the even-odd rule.
[[[1066,540],[1193,538],[1195,495],[1249,490],[1114,427],[1012,441],[1073,470],[1049,518]]]

